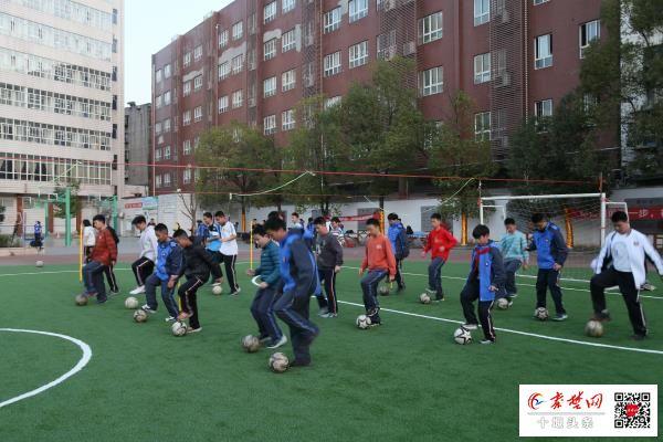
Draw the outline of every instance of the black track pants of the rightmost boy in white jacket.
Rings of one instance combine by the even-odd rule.
[[[602,313],[606,309],[606,288],[614,285],[619,286],[619,291],[627,304],[633,333],[635,335],[646,335],[646,320],[642,304],[640,303],[640,290],[635,286],[635,281],[631,272],[618,272],[610,267],[592,276],[589,287],[594,313]]]

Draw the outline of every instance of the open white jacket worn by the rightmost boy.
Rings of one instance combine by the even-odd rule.
[[[612,232],[606,236],[606,243],[601,248],[599,256],[592,262],[592,269],[597,275],[610,266],[611,243],[615,234],[619,233]],[[627,245],[629,261],[631,262],[631,272],[633,273],[633,281],[635,282],[636,287],[640,287],[646,280],[646,271],[644,269],[645,254],[656,266],[659,275],[663,276],[663,260],[645,235],[635,229],[631,229],[631,233],[628,235]]]

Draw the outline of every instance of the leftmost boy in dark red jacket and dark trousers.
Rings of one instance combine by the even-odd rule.
[[[106,219],[103,214],[95,215],[92,224],[96,230],[96,238],[90,262],[83,266],[84,295],[96,296],[97,303],[104,304],[108,299],[104,284],[104,270],[117,261],[117,245],[106,227]]]

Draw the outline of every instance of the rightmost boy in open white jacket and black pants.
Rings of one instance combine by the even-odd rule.
[[[625,212],[612,213],[611,221],[614,232],[606,236],[606,243],[593,263],[596,275],[589,284],[593,318],[610,320],[604,292],[607,287],[617,285],[629,311],[629,319],[634,333],[632,338],[642,340],[646,336],[646,322],[639,287],[646,275],[644,257],[648,256],[654,263],[661,278],[663,278],[663,260],[645,235],[631,229]]]

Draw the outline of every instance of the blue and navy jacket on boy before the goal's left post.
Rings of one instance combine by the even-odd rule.
[[[494,301],[506,281],[504,261],[498,245],[490,241],[486,245],[476,245],[472,251],[470,262],[470,275],[467,281],[476,277],[478,280],[480,301]],[[491,285],[497,290],[491,291]]]

